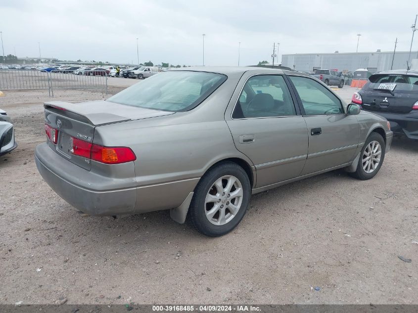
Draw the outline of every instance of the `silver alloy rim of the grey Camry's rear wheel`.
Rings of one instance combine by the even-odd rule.
[[[239,179],[231,175],[217,179],[206,194],[206,218],[218,226],[229,223],[238,214],[242,198],[242,184]]]

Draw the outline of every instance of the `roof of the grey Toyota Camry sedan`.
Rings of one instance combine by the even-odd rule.
[[[272,69],[268,67],[255,67],[255,66],[192,66],[192,67],[182,67],[182,68],[173,68],[170,71],[195,71],[195,72],[210,72],[210,73],[219,73],[227,76],[230,75],[242,75],[246,72],[251,74],[288,74],[288,75],[300,75],[311,77],[308,74],[297,72],[293,70],[281,70],[281,69]]]

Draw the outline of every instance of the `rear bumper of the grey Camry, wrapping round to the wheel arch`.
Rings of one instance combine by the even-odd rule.
[[[35,163],[43,179],[61,198],[80,211],[95,216],[181,207],[199,181],[199,178],[191,178],[138,186],[133,162],[112,165],[125,166],[115,168],[115,171],[132,173],[131,177],[110,178],[69,162],[46,143],[36,147]],[[132,169],[127,166],[132,166]]]

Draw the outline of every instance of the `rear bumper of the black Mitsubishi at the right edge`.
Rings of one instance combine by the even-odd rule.
[[[363,108],[364,109],[364,108]],[[390,130],[395,134],[405,134],[408,138],[418,139],[418,112],[407,114],[382,113],[369,111],[383,116],[390,123]]]

